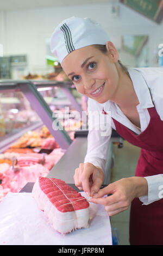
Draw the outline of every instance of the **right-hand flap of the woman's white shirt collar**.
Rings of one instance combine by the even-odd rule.
[[[149,92],[149,88],[147,86],[145,78],[143,78],[143,76],[140,74],[140,71],[133,68],[128,68],[128,72],[133,82],[135,93],[140,102],[139,105],[137,105],[136,107],[137,108],[154,107],[151,93]]]

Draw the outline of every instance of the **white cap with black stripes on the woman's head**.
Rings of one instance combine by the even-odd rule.
[[[71,17],[55,28],[51,37],[51,51],[61,63],[74,50],[88,45],[105,45],[108,40],[108,34],[96,21]]]

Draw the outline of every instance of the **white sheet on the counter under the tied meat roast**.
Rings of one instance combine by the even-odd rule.
[[[31,193],[9,192],[0,203],[0,245],[112,245],[104,206],[90,203],[90,214],[89,228],[61,235],[48,223]]]

